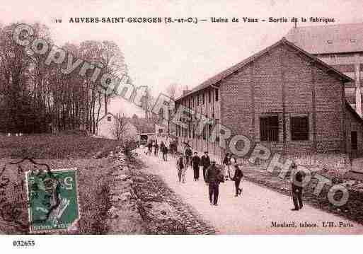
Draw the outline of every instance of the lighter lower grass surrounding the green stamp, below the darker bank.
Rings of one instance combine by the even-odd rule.
[[[9,159],[0,159],[0,165],[4,166]],[[110,158],[102,159],[79,159],[79,160],[35,160],[37,163],[46,163],[50,168],[77,168],[78,178],[78,193],[79,193],[79,207],[80,219],[78,222],[79,230],[74,233],[81,234],[101,234],[107,233],[108,228],[104,223],[107,217],[107,211],[110,209],[109,186],[112,180],[110,171],[113,170],[113,161]],[[24,168],[27,168],[26,166]],[[4,175],[10,179],[9,185],[6,188],[6,203],[11,204],[5,207],[4,204],[0,206],[5,214],[11,214],[12,206],[21,209],[21,213],[17,217],[10,217],[9,221],[4,221],[0,217],[0,232],[4,233],[27,233],[28,226],[19,227],[16,220],[21,224],[28,224],[28,209],[26,209],[27,194],[26,190],[18,188],[15,195],[11,194],[10,190],[16,186],[16,183],[25,180],[25,174],[14,173],[8,168]],[[15,171],[16,172],[16,171]],[[8,191],[9,190],[9,191]],[[5,211],[8,209],[8,211]]]

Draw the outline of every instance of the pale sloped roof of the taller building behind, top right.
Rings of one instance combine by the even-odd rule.
[[[311,54],[363,52],[363,23],[301,26],[286,37]]]

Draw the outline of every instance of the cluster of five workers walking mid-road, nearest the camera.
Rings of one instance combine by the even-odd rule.
[[[204,182],[208,185],[209,202],[211,205],[218,205],[219,184],[225,180],[233,180],[235,183],[235,197],[241,195],[242,189],[240,183],[243,178],[243,172],[231,154],[226,154],[223,161],[223,168],[216,166],[216,161],[211,160],[208,151],[204,151],[202,157],[198,156],[197,151],[192,152],[192,148],[187,146],[185,152],[178,158],[178,180],[185,183],[185,174],[188,168],[192,168],[194,180],[200,178],[200,168],[202,167]]]

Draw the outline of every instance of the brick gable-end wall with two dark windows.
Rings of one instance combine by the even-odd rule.
[[[222,81],[222,124],[272,152],[342,153],[342,84],[306,60],[289,47],[279,46]],[[278,142],[261,142],[260,117],[271,114],[279,117]],[[290,117],[294,115],[309,118],[308,140],[292,141]]]

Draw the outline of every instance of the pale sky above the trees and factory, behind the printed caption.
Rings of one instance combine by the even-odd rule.
[[[4,1],[4,0],[2,0]],[[1,23],[38,21],[47,25],[57,45],[83,40],[113,40],[125,54],[129,76],[136,86],[149,86],[154,96],[171,83],[192,88],[219,71],[280,40],[294,23],[261,22],[292,17],[335,18],[335,23],[363,22],[362,0],[257,0],[257,1],[120,1],[57,0],[6,1],[0,6]],[[69,23],[74,17],[197,17],[191,23]],[[211,17],[229,18],[212,23]],[[231,23],[231,18],[239,18]],[[244,23],[243,17],[258,18]],[[62,18],[62,23],[55,19]],[[325,23],[297,23],[298,26]],[[135,111],[123,100],[111,110]],[[116,112],[115,112],[116,113]]]

